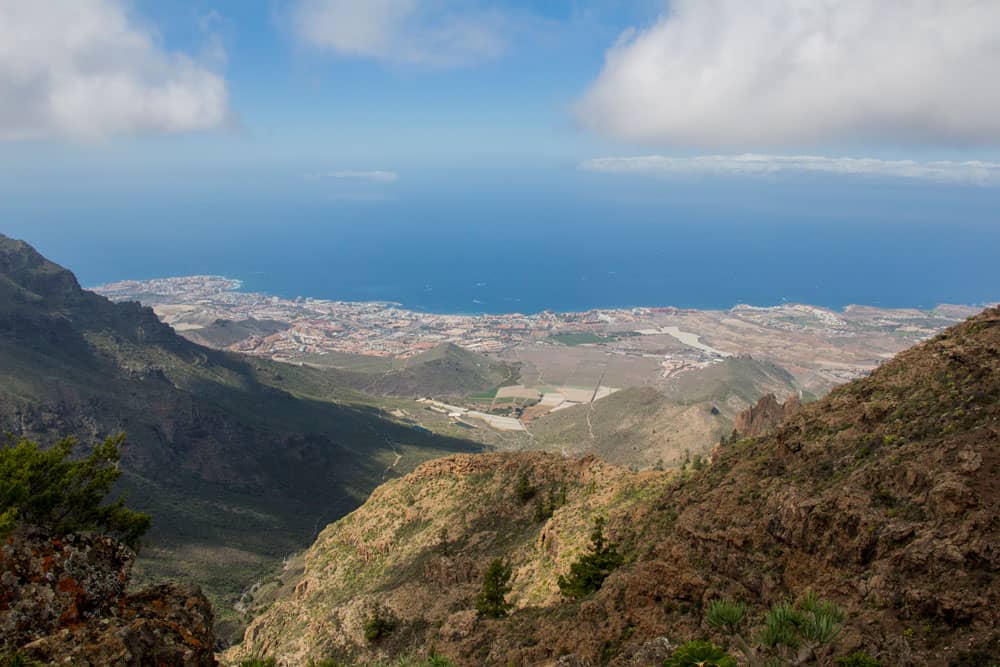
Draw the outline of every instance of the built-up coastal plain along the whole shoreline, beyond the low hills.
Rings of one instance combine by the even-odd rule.
[[[583,391],[664,384],[752,355],[779,363],[803,387],[821,393],[978,310],[941,305],[834,311],[782,304],[440,314],[391,302],[282,298],[245,291],[240,281],[222,276],[129,280],[94,290],[152,307],[196,342],[249,355],[294,363],[336,355],[407,359],[452,343],[536,368],[536,384],[561,378],[560,384]]]

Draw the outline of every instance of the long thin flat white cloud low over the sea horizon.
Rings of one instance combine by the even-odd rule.
[[[879,160],[876,158],[824,157],[819,155],[702,155],[698,157],[605,157],[587,160],[585,171],[614,174],[671,176],[684,174],[767,176],[785,172],[826,173],[846,176],[882,176],[941,183],[1000,185],[1000,163],[938,160]]]

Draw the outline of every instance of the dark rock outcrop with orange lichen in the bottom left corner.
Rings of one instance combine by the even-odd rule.
[[[127,593],[135,554],[101,536],[21,530],[0,547],[0,654],[43,664],[215,665],[197,587]]]

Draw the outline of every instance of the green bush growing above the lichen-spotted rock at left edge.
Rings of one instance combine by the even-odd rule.
[[[124,434],[110,437],[79,460],[70,458],[75,438],[44,450],[30,440],[8,441],[0,448],[0,535],[21,523],[55,534],[99,531],[138,546],[149,515],[126,508],[123,499],[104,504],[121,474],[124,441]]]

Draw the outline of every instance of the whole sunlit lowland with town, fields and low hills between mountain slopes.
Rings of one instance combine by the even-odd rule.
[[[442,315],[282,299],[219,276],[95,290],[142,302],[194,342],[322,369],[405,424],[501,450],[610,456],[635,469],[705,455],[762,396],[813,400],[977,310],[785,304]]]

